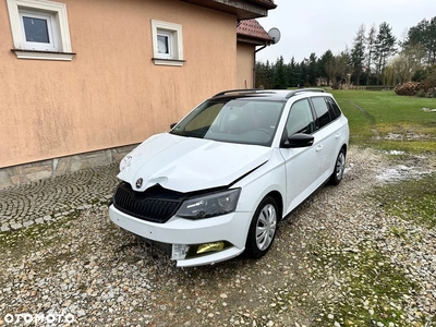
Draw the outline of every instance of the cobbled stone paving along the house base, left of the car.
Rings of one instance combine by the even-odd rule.
[[[108,203],[119,183],[118,164],[0,190],[0,231],[75,215]]]

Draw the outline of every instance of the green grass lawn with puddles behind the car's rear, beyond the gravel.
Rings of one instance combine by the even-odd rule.
[[[350,123],[350,143],[410,153],[436,150],[436,99],[393,92],[332,90]]]

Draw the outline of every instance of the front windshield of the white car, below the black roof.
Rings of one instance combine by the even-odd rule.
[[[253,99],[208,100],[181,120],[171,134],[270,146],[284,104]]]

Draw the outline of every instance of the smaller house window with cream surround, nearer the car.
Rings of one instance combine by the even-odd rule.
[[[152,36],[155,64],[183,65],[182,25],[153,20]]]

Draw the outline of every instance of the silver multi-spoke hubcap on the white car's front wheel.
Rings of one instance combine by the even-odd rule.
[[[277,227],[276,208],[267,204],[257,218],[256,226],[256,245],[258,250],[264,251],[271,244]]]

